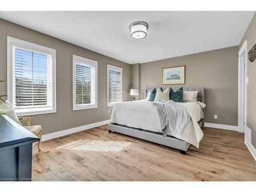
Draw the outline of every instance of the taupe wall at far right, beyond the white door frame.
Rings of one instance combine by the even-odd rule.
[[[242,47],[244,41],[247,40],[247,50],[249,51],[256,44],[256,14],[254,14],[250,25],[248,26],[244,37],[242,38],[239,48]],[[256,60],[250,62],[247,60],[247,76],[249,83],[247,84],[247,126],[251,129],[251,143],[256,148]]]

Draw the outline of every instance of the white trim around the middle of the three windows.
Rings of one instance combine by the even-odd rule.
[[[95,67],[95,104],[76,104],[76,61]],[[98,61],[73,55],[73,111],[98,108]]]

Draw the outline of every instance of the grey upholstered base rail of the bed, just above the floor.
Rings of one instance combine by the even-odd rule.
[[[162,135],[143,131],[139,129],[133,129],[132,127],[122,126],[119,124],[108,124],[109,133],[116,132],[124,135],[129,135],[146,141],[151,141],[161,145],[177,148],[180,153],[186,155],[186,151],[189,147],[189,143],[175,137],[163,137]]]

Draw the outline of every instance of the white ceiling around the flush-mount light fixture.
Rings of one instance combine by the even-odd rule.
[[[127,63],[142,63],[237,46],[254,11],[1,11],[0,17]],[[129,25],[149,25],[133,39]]]

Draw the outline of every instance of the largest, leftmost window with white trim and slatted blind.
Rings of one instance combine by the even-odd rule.
[[[20,115],[56,112],[54,49],[7,37],[8,100]]]

